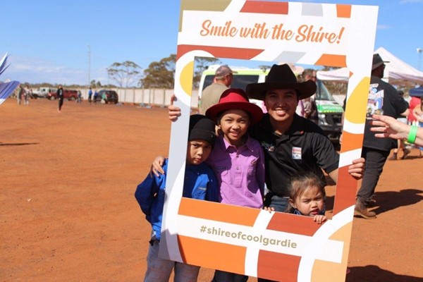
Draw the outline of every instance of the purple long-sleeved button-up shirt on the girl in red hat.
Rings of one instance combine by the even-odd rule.
[[[248,137],[239,148],[218,137],[207,159],[219,183],[219,202],[262,208],[264,153],[259,142]]]

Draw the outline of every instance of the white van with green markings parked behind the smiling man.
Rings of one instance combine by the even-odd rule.
[[[198,89],[199,104],[201,103],[202,90],[205,87],[212,84],[216,69],[220,65],[212,65],[202,73],[200,86]],[[262,70],[259,68],[243,68],[236,66],[229,66],[233,73],[233,81],[231,87],[241,88],[245,90],[247,84],[250,83],[261,83],[266,80],[266,75],[270,69]],[[302,71],[301,68],[298,68]],[[301,73],[295,73],[295,75],[301,75]],[[333,98],[331,92],[326,88],[321,80],[317,80],[317,91],[315,95],[315,101],[317,105],[317,112],[319,115],[319,126],[324,130],[329,139],[336,145],[339,143],[339,137],[342,132],[341,119],[343,114],[343,108]],[[257,104],[261,108],[264,108],[263,101],[250,99],[250,102]]]

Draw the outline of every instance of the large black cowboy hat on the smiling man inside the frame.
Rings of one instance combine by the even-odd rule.
[[[305,99],[312,96],[316,92],[316,82],[307,80],[306,82],[298,82],[295,74],[288,64],[273,65],[266,77],[266,81],[262,83],[250,83],[247,85],[248,97],[251,99],[263,100],[264,94],[271,89],[295,89],[298,92],[298,99]]]

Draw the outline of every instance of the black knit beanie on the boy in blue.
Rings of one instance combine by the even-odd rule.
[[[188,141],[200,139],[214,145],[216,134],[214,133],[214,121],[206,116],[195,114],[190,116],[190,130],[188,132]]]

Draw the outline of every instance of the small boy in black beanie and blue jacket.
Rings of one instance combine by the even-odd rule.
[[[212,152],[216,139],[214,126],[214,121],[205,116],[199,114],[190,116],[183,197],[213,202],[218,200],[217,180],[212,168],[204,162]],[[167,165],[168,160],[166,159],[164,162],[165,171]],[[135,190],[135,198],[140,204],[147,221],[152,225],[144,281],[168,282],[172,271],[174,271],[174,281],[195,282],[200,266],[173,262],[159,257],[165,189],[166,173],[159,176],[152,176],[149,173]]]

